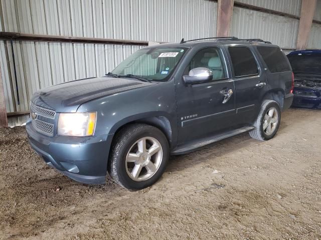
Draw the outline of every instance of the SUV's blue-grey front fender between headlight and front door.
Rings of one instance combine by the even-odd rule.
[[[80,105],[77,111],[97,112],[95,135],[115,134],[126,124],[140,122],[161,128],[171,146],[178,138],[174,81],[97,98]]]

